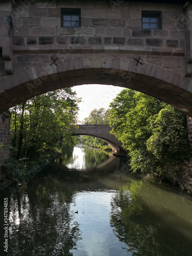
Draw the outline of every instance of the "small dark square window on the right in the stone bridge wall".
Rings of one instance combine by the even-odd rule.
[[[161,29],[162,18],[159,11],[142,11],[142,29]]]

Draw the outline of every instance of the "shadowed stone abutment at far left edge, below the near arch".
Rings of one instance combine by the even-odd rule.
[[[0,151],[0,164],[10,157],[11,132],[10,132],[10,116],[0,115],[0,143],[5,147]],[[0,178],[2,177],[2,169],[0,166]]]

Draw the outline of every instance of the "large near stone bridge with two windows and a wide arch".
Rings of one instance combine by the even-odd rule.
[[[146,93],[192,116],[191,75],[186,0],[1,0],[0,114],[35,95],[94,83]]]

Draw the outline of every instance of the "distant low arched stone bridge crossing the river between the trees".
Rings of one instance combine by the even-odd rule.
[[[89,135],[97,137],[110,146],[112,151],[119,156],[127,156],[127,151],[123,149],[122,144],[117,138],[111,134],[111,127],[109,124],[78,124],[78,129],[71,130],[72,135]]]

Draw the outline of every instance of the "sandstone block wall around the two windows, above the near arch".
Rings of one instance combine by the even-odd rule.
[[[185,14],[182,5],[121,1],[17,1],[13,9],[14,71],[51,61],[53,53],[124,51],[183,74]],[[116,1],[114,1],[115,3]],[[80,8],[81,27],[61,27],[61,8]],[[142,10],[162,11],[162,29],[142,29]],[[50,54],[49,54],[50,53]],[[38,54],[38,56],[37,56]],[[181,57],[182,56],[182,57]]]

